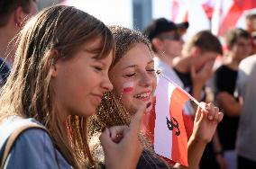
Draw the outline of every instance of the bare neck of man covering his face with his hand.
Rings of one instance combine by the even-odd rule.
[[[181,56],[181,57],[174,58],[173,67],[182,73],[190,72],[191,57],[190,56]]]

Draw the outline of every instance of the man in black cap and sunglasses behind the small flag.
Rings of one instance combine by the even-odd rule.
[[[173,59],[181,56],[184,41],[180,30],[188,28],[188,22],[175,24],[165,18],[153,20],[143,31],[143,34],[151,41],[151,48],[154,51],[155,67],[160,69],[164,76],[184,87],[176,72],[173,70]],[[180,34],[181,33],[181,34]],[[186,102],[183,111],[187,138],[192,134],[195,111],[190,103]],[[148,126],[151,133],[154,130],[155,113],[148,113],[143,118],[143,123]],[[152,141],[151,136],[151,141]],[[171,163],[171,162],[170,162]]]

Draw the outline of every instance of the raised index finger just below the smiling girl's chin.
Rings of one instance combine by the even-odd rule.
[[[130,123],[130,131],[132,133],[136,133],[138,134],[140,129],[141,129],[141,123],[142,123],[142,116],[143,116],[143,112],[146,110],[146,105],[143,104],[138,111],[135,113],[135,115],[133,116],[133,119]]]

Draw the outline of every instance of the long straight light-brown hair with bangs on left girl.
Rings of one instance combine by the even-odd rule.
[[[100,39],[90,52],[105,58],[115,51],[114,38],[103,22],[75,7],[56,5],[43,10],[24,26],[18,37],[14,67],[0,98],[0,120],[18,115],[34,118],[50,130],[54,145],[75,168],[93,165],[87,145],[87,118],[72,115],[60,121],[52,98],[50,67],[69,61],[80,46]],[[50,51],[57,51],[54,55]],[[85,160],[87,159],[87,160]]]

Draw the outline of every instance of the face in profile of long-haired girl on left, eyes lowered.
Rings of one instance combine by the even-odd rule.
[[[98,46],[99,40],[90,41],[68,60],[57,60],[50,84],[54,92],[54,104],[63,117],[78,115],[88,117],[96,112],[101,97],[113,85],[108,78],[108,69],[113,51],[106,58],[96,59],[88,50]]]

